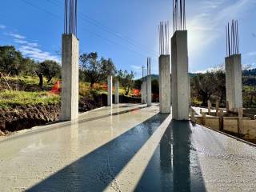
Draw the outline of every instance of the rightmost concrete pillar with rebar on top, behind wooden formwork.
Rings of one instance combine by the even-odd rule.
[[[241,54],[234,54],[225,59],[226,99],[230,110],[242,108],[242,66]]]

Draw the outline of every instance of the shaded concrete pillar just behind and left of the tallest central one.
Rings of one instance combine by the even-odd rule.
[[[159,102],[160,113],[170,114],[170,55],[159,57]]]

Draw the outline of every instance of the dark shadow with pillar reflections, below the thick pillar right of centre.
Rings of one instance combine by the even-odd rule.
[[[172,121],[135,191],[206,191],[190,122]]]

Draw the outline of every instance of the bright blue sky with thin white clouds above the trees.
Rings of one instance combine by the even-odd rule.
[[[64,0],[2,0],[0,45],[60,61]],[[223,64],[225,26],[238,19],[242,64],[256,67],[256,0],[186,1],[190,72]],[[146,57],[158,74],[158,24],[172,21],[171,0],[78,0],[80,52],[97,51],[141,75]],[[170,29],[170,31],[172,31]]]

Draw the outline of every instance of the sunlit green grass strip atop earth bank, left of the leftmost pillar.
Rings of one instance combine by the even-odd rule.
[[[58,94],[51,94],[49,92],[25,92],[14,90],[3,90],[0,93],[0,108],[10,108],[15,106],[29,106],[29,105],[49,105],[60,102]]]

